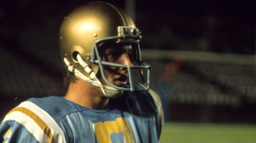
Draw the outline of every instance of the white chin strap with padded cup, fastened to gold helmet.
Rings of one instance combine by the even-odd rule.
[[[81,72],[79,72],[77,69],[70,66],[70,63],[67,61],[66,58],[64,58],[64,62],[70,72],[73,72],[76,76],[78,76],[80,79],[86,81],[87,83],[94,85],[96,87],[99,87],[102,90],[103,94],[108,98],[118,98],[118,97],[122,96],[123,90],[118,90],[113,87],[103,85],[99,81],[99,79],[95,76],[95,73],[91,70],[91,68],[88,66],[88,64],[82,60],[80,54],[77,54],[77,60],[78,60],[78,63],[84,68],[84,71],[90,75],[91,79],[87,78]]]

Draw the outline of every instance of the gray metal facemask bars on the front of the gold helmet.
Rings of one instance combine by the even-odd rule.
[[[142,81],[144,82],[144,85],[146,86],[145,88],[141,88],[141,89],[136,89],[137,91],[145,91],[145,90],[149,90],[149,84],[150,84],[150,67],[151,65],[149,64],[146,64],[144,62],[141,61],[141,55],[140,55],[140,47],[139,47],[139,44],[138,47],[137,47],[137,54],[139,54],[139,66],[137,65],[123,65],[123,64],[117,64],[117,63],[111,63],[111,62],[105,62],[105,61],[101,61],[101,58],[100,58],[100,55],[99,55],[99,52],[98,52],[98,46],[100,43],[102,42],[109,42],[109,41],[113,41],[113,40],[116,40],[116,39],[138,39],[139,36],[113,36],[113,37],[107,37],[107,38],[102,38],[102,39],[99,39],[97,40],[94,44],[93,44],[93,47],[92,47],[92,55],[95,55],[97,56],[97,59],[98,60],[95,60],[95,59],[90,59],[90,62],[92,63],[97,63],[99,65],[99,69],[100,69],[100,73],[102,75],[102,78],[105,80],[105,82],[115,88],[115,89],[118,89],[118,90],[124,90],[124,91],[134,91],[134,87],[133,87],[133,81],[132,81],[132,73],[131,73],[131,69],[140,69],[140,76],[142,78]],[[115,66],[115,67],[122,67],[122,68],[127,68],[128,69],[128,77],[129,77],[129,83],[130,83],[130,88],[123,88],[123,87],[118,87],[118,86],[115,86],[113,84],[111,84],[105,74],[104,74],[104,71],[103,71],[103,65],[108,65],[108,66]],[[144,77],[143,77],[143,69],[147,69],[147,81],[145,81]]]

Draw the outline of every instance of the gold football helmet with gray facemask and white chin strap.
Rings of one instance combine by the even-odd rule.
[[[106,2],[91,2],[73,10],[60,28],[60,52],[65,66],[82,80],[101,88],[107,97],[116,98],[123,90],[148,90],[150,65],[140,58],[140,31],[132,18],[121,8]],[[98,50],[102,43],[133,43],[133,59],[137,65],[122,65],[101,61]],[[118,87],[111,84],[105,77],[103,65],[124,67],[128,69],[129,85]],[[143,78],[143,69],[147,69],[147,80],[143,78],[145,87],[134,89],[131,69],[139,69]],[[109,86],[103,85],[96,74],[100,72]]]

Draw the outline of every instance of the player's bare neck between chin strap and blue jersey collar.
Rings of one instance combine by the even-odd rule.
[[[81,106],[100,110],[107,106],[109,98],[105,97],[101,89],[81,79],[69,84],[65,99]]]

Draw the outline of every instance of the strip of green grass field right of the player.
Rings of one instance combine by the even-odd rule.
[[[161,143],[256,143],[256,124],[164,123]]]

